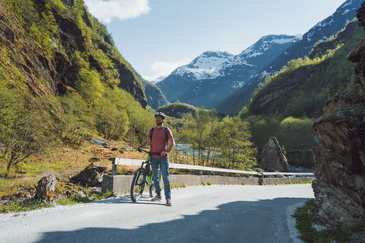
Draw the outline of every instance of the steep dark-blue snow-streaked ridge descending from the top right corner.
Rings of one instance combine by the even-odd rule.
[[[326,19],[318,22],[310,30],[308,30],[303,38],[290,46],[286,53],[281,54],[274,59],[264,70],[259,74],[254,75],[242,85],[238,90],[234,90],[227,99],[223,100],[215,108],[225,111],[230,115],[237,114],[245,104],[247,104],[251,95],[260,82],[264,82],[266,74],[277,73],[286,63],[292,59],[302,58],[309,55],[316,42],[320,40],[327,40],[331,35],[335,35],[343,27],[345,27],[347,20],[355,18],[356,9],[360,8],[361,0],[347,0],[337,10]]]

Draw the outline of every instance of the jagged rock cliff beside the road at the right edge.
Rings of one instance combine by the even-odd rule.
[[[365,27],[365,3],[357,10]],[[340,107],[314,123],[319,146],[313,148],[312,188],[324,224],[350,225],[365,215],[365,35],[347,57],[354,63],[357,89],[337,97]],[[354,85],[356,86],[356,85]],[[333,107],[328,103],[327,108]]]

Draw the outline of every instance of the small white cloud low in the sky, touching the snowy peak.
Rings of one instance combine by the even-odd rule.
[[[152,81],[160,76],[172,73],[173,70],[177,69],[178,67],[187,65],[191,61],[191,59],[185,58],[177,62],[154,62],[150,65],[150,70],[152,71],[151,75],[143,75],[142,77],[145,80]]]

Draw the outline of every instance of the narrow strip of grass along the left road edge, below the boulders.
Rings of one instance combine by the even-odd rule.
[[[91,194],[89,197],[65,197],[59,198],[55,205],[74,205],[79,203],[91,202],[95,200],[105,199],[114,196],[113,192],[107,190],[105,193],[95,193]],[[54,207],[53,204],[45,200],[32,200],[23,202],[11,202],[8,205],[0,205],[0,213],[12,213],[12,212],[26,212],[32,211],[39,208],[50,208]]]

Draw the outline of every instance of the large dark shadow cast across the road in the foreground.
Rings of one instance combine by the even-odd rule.
[[[292,242],[287,229],[285,210],[288,206],[305,202],[308,198],[275,198],[273,200],[235,201],[222,204],[214,210],[193,215],[181,215],[182,219],[146,224],[144,212],[134,214],[139,220],[116,220],[110,227],[90,227],[73,231],[45,232],[38,243],[44,242]],[[126,203],[127,199],[114,198],[108,203]],[[129,203],[129,202],[127,202]],[[207,202],[208,204],[209,202]],[[176,205],[174,205],[176,207]],[[170,208],[169,208],[170,209]],[[117,212],[116,212],[117,213]],[[161,212],[160,212],[161,213]],[[175,214],[176,216],[176,214]],[[95,221],[92,222],[95,225]],[[111,224],[109,224],[111,225]]]

